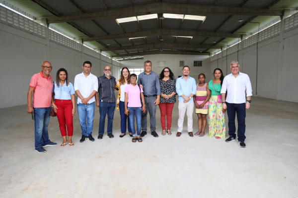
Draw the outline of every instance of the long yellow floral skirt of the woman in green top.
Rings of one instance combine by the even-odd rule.
[[[209,137],[225,138],[225,115],[223,104],[217,102],[218,96],[211,96],[209,99]]]

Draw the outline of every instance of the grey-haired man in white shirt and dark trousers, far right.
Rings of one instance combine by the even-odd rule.
[[[225,142],[229,143],[236,140],[235,116],[237,113],[238,121],[238,141],[239,146],[245,148],[245,116],[246,110],[250,107],[250,98],[252,96],[252,88],[247,74],[239,72],[238,61],[232,61],[230,64],[231,74],[224,77],[222,85],[223,109],[227,111],[228,117],[228,135],[230,136]],[[245,99],[246,90],[246,99]],[[225,93],[227,97],[225,99]]]

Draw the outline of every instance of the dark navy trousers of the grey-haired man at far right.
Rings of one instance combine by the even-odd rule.
[[[226,103],[226,111],[228,117],[228,135],[236,139],[235,116],[237,113],[238,121],[238,141],[245,141],[245,103]]]

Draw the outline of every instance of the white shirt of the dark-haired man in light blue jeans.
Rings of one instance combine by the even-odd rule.
[[[93,91],[98,90],[98,80],[93,74],[85,77],[84,72],[77,74],[74,78],[74,91],[78,90],[84,98],[88,98]],[[95,101],[95,96],[89,99],[88,104]],[[77,97],[77,103],[82,103],[82,100]]]

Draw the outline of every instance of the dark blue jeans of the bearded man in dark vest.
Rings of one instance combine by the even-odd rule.
[[[99,102],[99,129],[98,134],[103,135],[104,133],[104,124],[105,117],[108,114],[108,128],[107,133],[110,134],[113,132],[113,119],[115,112],[116,102]]]

